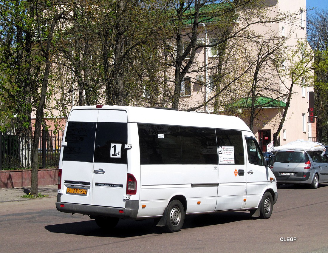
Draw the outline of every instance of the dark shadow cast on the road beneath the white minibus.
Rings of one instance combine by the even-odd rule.
[[[226,212],[202,215],[187,215],[183,229],[204,227],[256,219],[249,212]],[[62,224],[47,225],[45,229],[51,233],[73,234],[81,236],[129,238],[149,234],[161,234],[163,228],[155,226],[154,219],[142,221],[120,219],[114,228],[102,229],[94,220],[70,222]]]

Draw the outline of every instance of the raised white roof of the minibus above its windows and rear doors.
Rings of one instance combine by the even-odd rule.
[[[128,122],[163,124],[177,126],[195,126],[221,129],[234,129],[252,132],[240,118],[235,116],[214,115],[197,112],[163,110],[159,108],[104,105],[101,108],[92,106],[73,106],[74,110],[124,110],[128,115]],[[70,117],[68,118],[68,121]]]

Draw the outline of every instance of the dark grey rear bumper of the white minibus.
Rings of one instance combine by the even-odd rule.
[[[61,202],[61,194],[57,194],[56,208],[58,211],[63,213],[78,213],[94,216],[117,217],[122,219],[136,219],[139,208],[139,200],[126,200],[125,208],[119,208]]]

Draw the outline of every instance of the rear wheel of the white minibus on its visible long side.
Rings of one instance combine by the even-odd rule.
[[[185,218],[185,211],[182,203],[179,200],[173,200],[169,203],[166,209],[166,232],[172,233],[180,231]]]

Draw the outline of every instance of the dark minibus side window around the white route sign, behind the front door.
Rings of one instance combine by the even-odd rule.
[[[234,161],[231,164],[245,164],[244,145],[241,131],[216,129],[218,148],[233,147]]]

